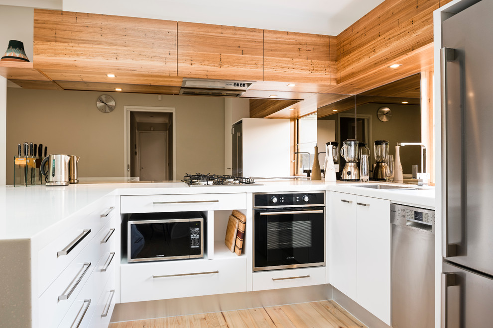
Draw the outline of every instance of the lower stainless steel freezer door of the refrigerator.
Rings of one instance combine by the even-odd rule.
[[[492,327],[493,279],[444,262],[442,302],[445,327]]]

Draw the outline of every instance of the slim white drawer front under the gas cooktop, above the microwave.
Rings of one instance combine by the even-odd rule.
[[[246,194],[121,196],[121,213],[211,211],[247,207]]]

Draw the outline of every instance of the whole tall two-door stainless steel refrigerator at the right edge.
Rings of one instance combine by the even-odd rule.
[[[462,1],[462,3],[465,1]],[[442,22],[442,327],[493,327],[493,0]]]

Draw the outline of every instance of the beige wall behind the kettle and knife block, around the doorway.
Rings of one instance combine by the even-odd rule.
[[[116,108],[102,113],[107,93]],[[216,97],[7,88],[6,182],[17,144],[42,143],[48,154],[80,156],[79,177],[123,176],[123,106],[176,108],[176,177],[224,172],[224,99]]]

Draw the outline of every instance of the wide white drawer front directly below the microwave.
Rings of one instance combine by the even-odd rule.
[[[122,303],[247,291],[245,256],[129,263],[120,272]]]

